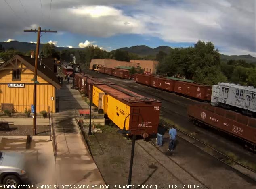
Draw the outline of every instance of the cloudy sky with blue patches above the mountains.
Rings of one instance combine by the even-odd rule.
[[[111,51],[211,41],[226,55],[256,56],[255,0],[1,0],[0,41],[98,46]]]

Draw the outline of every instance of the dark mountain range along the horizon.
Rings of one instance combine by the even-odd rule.
[[[0,45],[2,45],[6,50],[8,48],[14,48],[15,50],[19,50],[21,52],[29,52],[30,50],[36,50],[36,44],[35,43],[27,43],[27,42],[18,42],[18,41],[10,41],[10,42],[0,42]],[[42,48],[43,44],[40,44],[40,50]],[[62,50],[71,50],[71,48],[68,47],[55,47],[56,50],[62,51]],[[72,48],[72,50],[82,50],[83,48]],[[145,45],[137,45],[132,47],[123,47],[116,50],[123,50],[128,51],[134,54],[138,54],[139,56],[148,56],[152,55],[155,56],[159,51],[163,51],[168,53],[170,51],[170,47],[168,46],[159,46],[157,48],[150,48],[149,46]],[[115,50],[111,51],[114,52]],[[255,62],[256,63],[256,57],[248,55],[225,55],[220,54],[220,58],[222,60],[246,60],[246,62]]]

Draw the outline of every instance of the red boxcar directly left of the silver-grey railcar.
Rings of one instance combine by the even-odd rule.
[[[200,100],[211,100],[212,87],[196,83],[175,81],[174,92]]]

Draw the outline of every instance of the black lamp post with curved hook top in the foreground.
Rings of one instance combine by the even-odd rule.
[[[138,116],[141,116],[141,114],[138,113],[132,113],[129,114],[128,116],[126,116],[125,120],[124,120],[124,128],[122,130],[119,130],[118,133],[122,133],[122,134],[132,134],[132,131],[126,130],[125,129],[125,123],[126,123],[126,119],[133,114],[137,114]],[[143,117],[142,118],[142,123],[144,122]],[[131,158],[130,158],[130,170],[129,170],[129,177],[128,177],[128,186],[131,185],[131,181],[132,181],[132,166],[133,166],[133,157],[134,157],[134,149],[135,149],[135,139],[136,139],[136,135],[132,134],[132,151],[131,151]]]

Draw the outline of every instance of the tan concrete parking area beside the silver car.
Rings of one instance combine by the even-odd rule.
[[[25,155],[29,184],[54,185],[55,159],[49,136],[33,136],[29,149],[26,141],[25,136],[0,136],[0,151]]]

